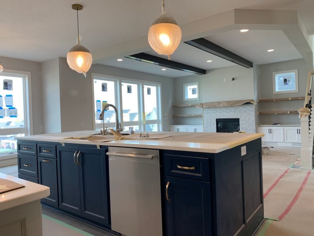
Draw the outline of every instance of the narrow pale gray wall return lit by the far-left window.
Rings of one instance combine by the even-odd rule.
[[[44,133],[61,132],[59,59],[41,63]]]

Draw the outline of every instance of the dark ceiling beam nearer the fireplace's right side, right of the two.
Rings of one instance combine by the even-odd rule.
[[[196,48],[199,48],[203,51],[206,51],[208,53],[212,53],[216,56],[219,56],[223,59],[226,59],[228,61],[234,62],[238,65],[242,65],[246,68],[252,68],[253,63],[249,60],[246,60],[243,57],[240,57],[236,53],[230,52],[229,50],[220,47],[219,45],[208,41],[207,39],[204,38],[198,38],[198,39],[193,39],[190,41],[185,42],[189,45],[192,45]]]

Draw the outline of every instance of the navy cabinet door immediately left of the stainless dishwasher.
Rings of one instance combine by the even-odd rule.
[[[106,149],[78,148],[81,216],[110,224]]]

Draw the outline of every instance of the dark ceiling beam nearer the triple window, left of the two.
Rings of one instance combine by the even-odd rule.
[[[201,68],[197,68],[191,65],[186,65],[180,62],[164,59],[161,57],[156,57],[147,53],[137,53],[134,55],[126,56],[126,58],[143,61],[143,62],[147,62],[154,65],[160,65],[162,67],[167,67],[167,68],[171,68],[175,70],[182,70],[182,71],[186,71],[186,72],[190,72],[190,73],[194,73],[198,75],[206,74],[206,70],[203,70]]]

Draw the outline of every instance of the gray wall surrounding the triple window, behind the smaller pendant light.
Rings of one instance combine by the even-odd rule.
[[[171,117],[173,78],[100,64],[92,65],[85,78],[83,74],[71,70],[65,58],[59,58],[59,72],[62,132],[93,129],[94,102],[92,100],[91,73],[161,83],[163,130],[168,131],[169,125],[173,123]],[[167,116],[164,115],[165,113]]]

